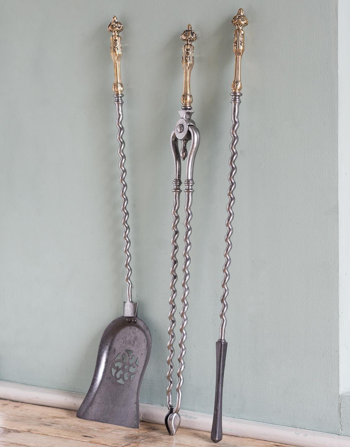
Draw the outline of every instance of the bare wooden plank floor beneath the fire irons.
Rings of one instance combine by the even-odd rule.
[[[0,446],[16,447],[170,447],[213,446],[210,433],[141,422],[138,430],[84,421],[75,411],[0,400]],[[221,447],[293,447],[224,435]]]

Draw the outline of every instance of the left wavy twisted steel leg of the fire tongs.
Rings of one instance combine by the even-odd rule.
[[[172,359],[174,357],[174,342],[175,342],[175,333],[174,333],[174,329],[175,329],[175,325],[176,325],[176,321],[175,321],[175,312],[176,312],[176,304],[175,304],[175,298],[177,295],[177,290],[176,290],[176,282],[178,279],[178,276],[176,274],[176,268],[178,266],[178,261],[177,261],[177,253],[179,251],[179,245],[177,244],[177,239],[179,237],[179,230],[177,228],[178,223],[179,223],[179,206],[180,206],[180,186],[181,186],[181,180],[177,180],[175,179],[173,181],[174,184],[174,189],[173,189],[173,193],[174,193],[174,206],[172,209],[172,215],[173,215],[173,222],[171,224],[171,228],[173,230],[173,236],[171,237],[171,245],[173,247],[172,251],[171,251],[171,269],[170,269],[170,274],[171,274],[171,282],[170,282],[170,290],[171,290],[171,296],[169,298],[169,304],[170,304],[170,312],[168,314],[169,317],[169,321],[170,321],[170,325],[168,328],[168,334],[169,334],[169,341],[167,343],[167,347],[169,350],[169,355],[167,357],[167,364],[168,364],[168,371],[167,371],[167,380],[168,380],[168,386],[167,386],[167,406],[168,409],[171,408],[172,406],[172,396],[171,396],[171,390],[173,388],[174,385],[174,381],[172,379],[172,373],[174,371],[174,364],[172,363]]]

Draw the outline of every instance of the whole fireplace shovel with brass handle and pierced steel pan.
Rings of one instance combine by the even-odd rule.
[[[117,140],[121,170],[121,198],[125,241],[125,281],[127,283],[127,300],[124,303],[124,315],[113,320],[105,329],[98,350],[96,368],[92,383],[77,416],[90,421],[105,422],[124,427],[138,428],[140,388],[148,359],[150,358],[151,336],[145,323],[137,318],[137,303],[131,298],[132,283],[129,253],[129,213],[126,210],[128,198],[125,182],[124,128],[122,91],[120,75],[121,37],[123,25],[112,18],[108,26],[111,36],[111,55],[114,63],[113,92],[117,108]]]

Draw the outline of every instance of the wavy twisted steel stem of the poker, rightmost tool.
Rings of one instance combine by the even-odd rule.
[[[232,99],[231,99],[231,103],[232,103],[232,127],[231,127],[231,135],[232,135],[232,142],[230,144],[230,151],[231,151],[231,156],[229,159],[229,167],[230,167],[230,172],[229,172],[229,189],[227,190],[227,195],[229,197],[229,203],[227,204],[227,213],[228,213],[228,217],[226,219],[226,228],[227,228],[227,232],[226,232],[226,236],[225,236],[225,242],[226,242],[226,249],[224,252],[224,257],[225,257],[225,263],[224,266],[222,268],[222,271],[224,272],[224,279],[222,280],[221,283],[221,287],[222,287],[222,295],[221,295],[221,304],[222,304],[222,308],[220,311],[220,318],[221,318],[221,324],[220,324],[220,340],[224,340],[225,341],[225,329],[226,329],[226,311],[227,311],[227,297],[229,295],[229,287],[228,287],[228,282],[229,282],[229,278],[230,278],[230,274],[229,274],[229,266],[231,264],[231,257],[230,257],[230,251],[232,249],[232,242],[231,242],[231,236],[232,236],[232,220],[233,220],[233,211],[232,211],[232,207],[234,205],[235,202],[235,198],[233,195],[233,191],[236,188],[236,181],[234,180],[234,176],[237,172],[237,166],[235,164],[235,161],[237,159],[237,143],[238,143],[238,135],[237,135],[237,129],[239,126],[239,121],[238,121],[238,112],[239,112],[239,104],[241,103],[241,96],[242,93],[231,93]]]

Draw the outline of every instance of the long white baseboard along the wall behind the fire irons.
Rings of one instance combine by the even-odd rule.
[[[77,410],[84,395],[76,392],[42,388],[0,380],[0,399],[46,405],[48,407]],[[165,407],[140,403],[140,420],[164,423],[167,413]],[[194,430],[211,431],[212,415],[195,411],[181,410],[181,426]],[[276,443],[292,444],[298,447],[350,447],[350,437],[320,431],[284,427],[263,422],[247,421],[234,417],[223,417],[222,428],[225,434],[243,438],[262,439]]]

